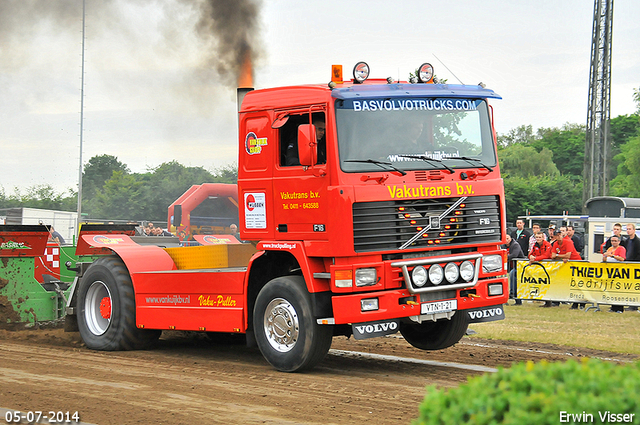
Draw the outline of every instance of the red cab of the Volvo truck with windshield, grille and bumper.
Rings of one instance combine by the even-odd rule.
[[[505,204],[488,104],[499,98],[482,86],[356,78],[247,93],[242,239],[278,251],[311,293],[331,294],[321,322],[504,317]]]

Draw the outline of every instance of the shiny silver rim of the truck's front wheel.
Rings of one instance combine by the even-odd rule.
[[[276,351],[291,351],[300,332],[296,309],[284,298],[274,299],[265,310],[264,329],[267,341]]]

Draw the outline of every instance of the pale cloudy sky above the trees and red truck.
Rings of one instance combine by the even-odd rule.
[[[86,0],[84,163],[110,154],[144,172],[172,160],[210,170],[235,162],[234,55],[245,48],[256,88],[328,82],[331,64],[349,74],[361,60],[373,77],[406,79],[430,62],[450,83],[482,81],[503,97],[493,102],[499,133],[586,122],[593,1],[212,4]],[[615,1],[613,31],[615,117],[635,110],[640,2]],[[6,194],[77,188],[81,46],[82,0],[0,0]]]

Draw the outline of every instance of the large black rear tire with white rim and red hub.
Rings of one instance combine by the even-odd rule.
[[[82,340],[94,350],[146,348],[162,333],[136,327],[131,276],[124,262],[116,256],[97,259],[82,276],[77,318]]]

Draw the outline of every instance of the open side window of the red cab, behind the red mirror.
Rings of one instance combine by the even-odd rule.
[[[325,137],[326,118],[324,112],[290,115],[286,124],[280,128],[280,165],[285,167],[300,165],[298,159],[298,126],[309,124],[316,127],[318,141],[318,164],[327,162],[327,141]]]

